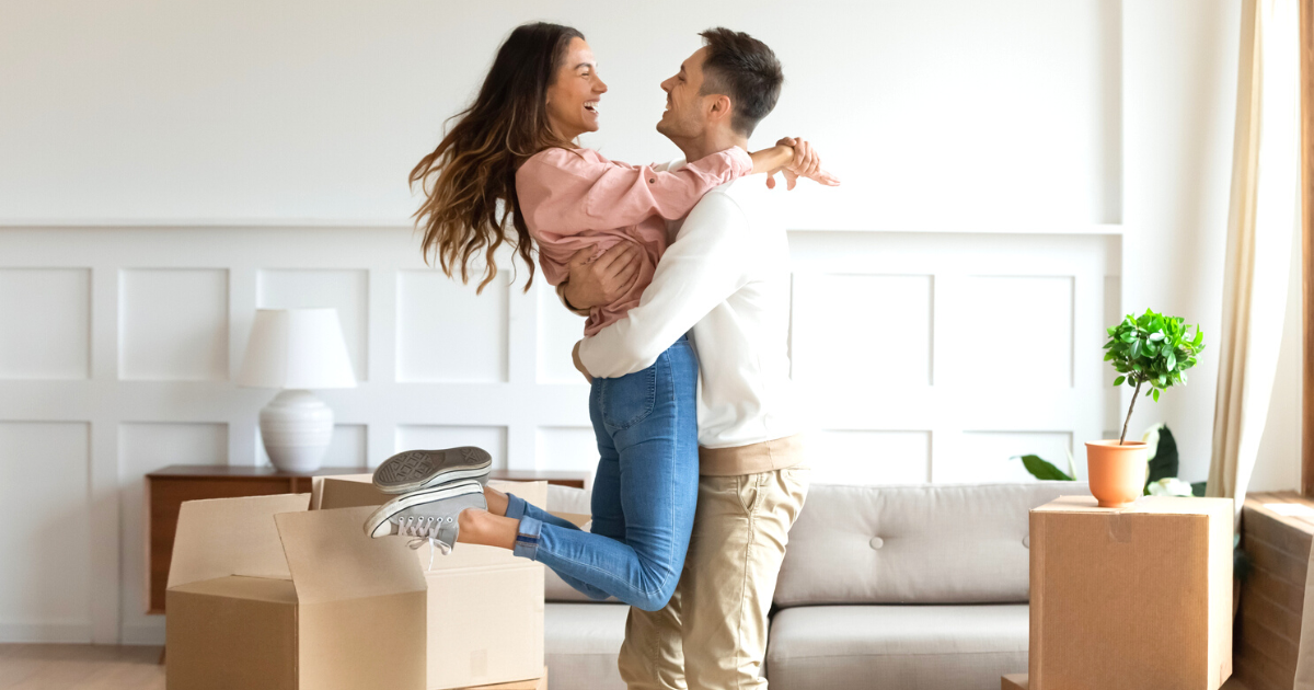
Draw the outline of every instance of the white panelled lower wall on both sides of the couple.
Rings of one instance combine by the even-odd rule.
[[[142,477],[268,461],[256,413],[273,392],[233,384],[258,308],[342,315],[360,386],[322,392],[330,465],[453,444],[498,468],[597,463],[569,355],[582,319],[507,273],[476,296],[424,267],[409,229],[7,229],[0,242],[18,250],[0,263],[13,334],[0,511],[35,526],[0,536],[3,639],[162,639],[142,614]],[[817,481],[1026,478],[1009,456],[1072,449],[1080,464],[1079,442],[1113,426],[1100,344],[1117,237],[802,231],[791,247]]]

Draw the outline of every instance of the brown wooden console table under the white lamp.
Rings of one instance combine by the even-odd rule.
[[[147,614],[164,612],[164,589],[173,559],[177,513],[184,501],[310,493],[313,477],[360,474],[359,467],[330,467],[310,473],[279,472],[272,467],[170,465],[146,476],[146,594]],[[583,489],[582,472],[536,472],[494,469],[490,478],[506,481],[547,481]]]

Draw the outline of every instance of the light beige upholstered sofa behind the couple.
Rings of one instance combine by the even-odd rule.
[[[816,485],[790,534],[765,674],[773,690],[993,690],[1026,670],[1028,510],[1072,482]],[[552,488],[549,510],[587,513]],[[628,607],[548,572],[553,690],[623,690]]]

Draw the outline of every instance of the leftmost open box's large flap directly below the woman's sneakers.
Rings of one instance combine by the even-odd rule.
[[[371,539],[372,507],[277,515],[279,536],[302,603],[424,591],[424,574],[405,538]]]

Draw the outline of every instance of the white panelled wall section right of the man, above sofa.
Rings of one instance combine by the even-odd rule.
[[[791,355],[817,481],[1028,480],[1038,453],[1084,476],[1116,423],[1102,363],[1112,235],[796,233]]]

